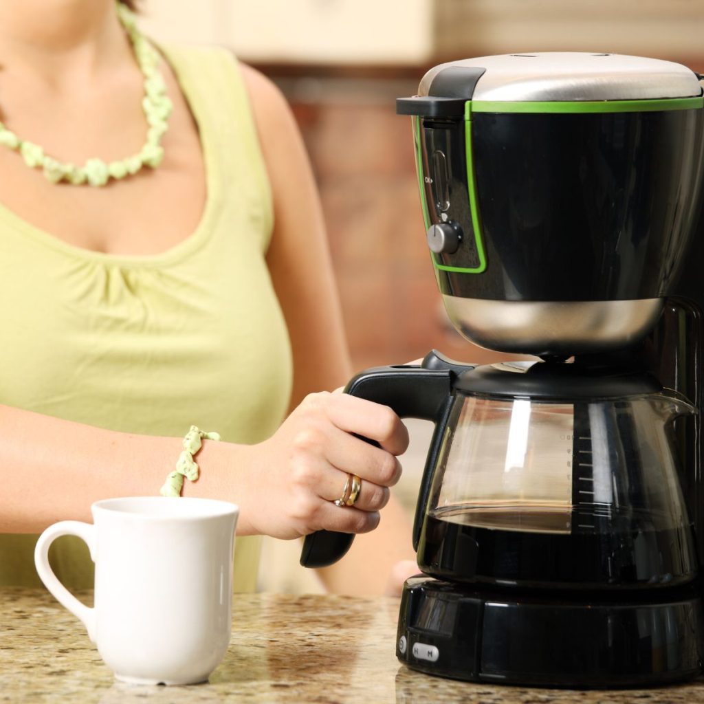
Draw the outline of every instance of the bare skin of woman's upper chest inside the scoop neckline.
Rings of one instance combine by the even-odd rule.
[[[0,146],[1,206],[65,243],[103,253],[152,255],[187,239],[206,208],[205,147],[175,75],[166,63],[162,70],[173,111],[157,168],[144,165],[103,187],[54,184],[18,151]],[[142,87],[130,79],[75,105],[78,97],[70,94],[51,99],[38,92],[29,101],[3,76],[0,107],[10,111],[20,137],[60,161],[121,161],[142,149],[148,127],[139,107]]]

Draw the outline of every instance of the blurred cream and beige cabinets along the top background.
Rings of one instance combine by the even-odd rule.
[[[144,26],[157,37],[223,44],[256,63],[425,65],[515,51],[691,63],[704,54],[704,0],[149,0],[143,7]]]

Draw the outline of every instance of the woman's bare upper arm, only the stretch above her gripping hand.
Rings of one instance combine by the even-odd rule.
[[[294,355],[291,409],[310,391],[351,376],[325,222],[301,134],[279,90],[242,65],[271,184],[274,232],[267,263]]]

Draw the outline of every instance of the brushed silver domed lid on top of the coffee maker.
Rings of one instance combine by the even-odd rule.
[[[538,52],[479,56],[441,63],[423,76],[427,96],[434,77],[449,66],[481,67],[473,101],[598,101],[689,98],[702,85],[686,66],[620,54]]]

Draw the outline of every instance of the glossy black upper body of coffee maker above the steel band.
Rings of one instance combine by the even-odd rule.
[[[703,135],[702,109],[422,118],[427,221],[456,222],[465,235],[454,253],[434,255],[441,292],[511,301],[665,295],[690,244]],[[449,199],[435,177],[439,153]],[[442,268],[476,270],[478,246],[483,272]]]

